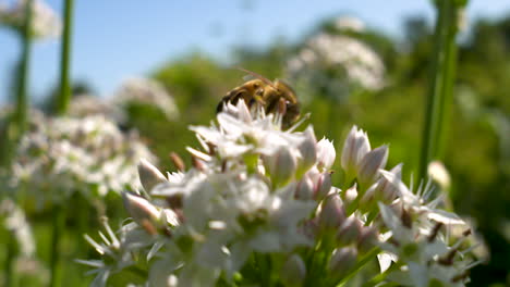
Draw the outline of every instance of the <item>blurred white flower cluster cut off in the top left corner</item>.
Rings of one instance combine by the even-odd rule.
[[[0,24],[23,33],[26,5],[32,2],[31,35],[34,38],[57,38],[62,30],[60,17],[42,0],[16,0],[11,7],[0,2]]]

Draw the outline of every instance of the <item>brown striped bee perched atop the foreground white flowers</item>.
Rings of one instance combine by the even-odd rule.
[[[243,99],[246,105],[252,108],[254,104],[260,104],[266,114],[282,114],[283,128],[290,127],[300,117],[300,103],[294,90],[280,79],[270,82],[269,79],[243,68],[239,68],[255,77],[243,85],[229,91],[218,103],[216,112],[222,111],[227,102],[236,104]]]

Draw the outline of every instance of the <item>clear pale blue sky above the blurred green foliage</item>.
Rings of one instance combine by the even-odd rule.
[[[59,13],[63,0],[47,0]],[[467,15],[510,13],[509,0],[471,0]],[[410,15],[433,17],[428,0],[75,0],[72,77],[107,96],[122,79],[146,75],[192,51],[228,59],[234,45],[264,47],[276,36],[295,40],[326,16],[349,14],[399,35]],[[13,34],[0,29],[0,102],[8,98],[19,55]],[[48,93],[58,80],[58,40],[34,45],[31,91]]]

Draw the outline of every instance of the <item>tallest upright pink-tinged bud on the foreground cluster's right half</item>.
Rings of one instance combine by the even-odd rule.
[[[343,144],[341,158],[341,165],[345,171],[348,180],[354,178],[354,174],[361,160],[366,153],[368,153],[368,151],[371,151],[368,136],[363,132],[363,129],[357,129],[357,126],[353,126]]]

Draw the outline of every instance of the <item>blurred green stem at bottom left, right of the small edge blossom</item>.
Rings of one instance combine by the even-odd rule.
[[[57,287],[61,284],[62,266],[60,262],[62,251],[62,238],[64,236],[65,210],[62,204],[57,204],[53,209],[52,238],[51,238],[51,278],[50,286]]]

